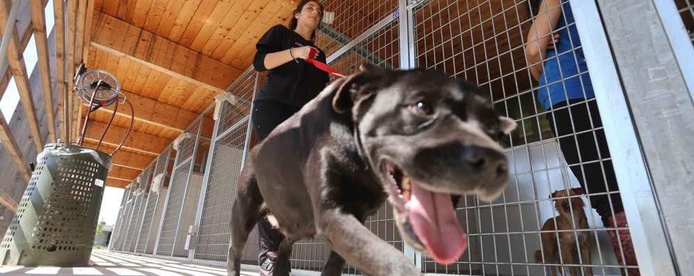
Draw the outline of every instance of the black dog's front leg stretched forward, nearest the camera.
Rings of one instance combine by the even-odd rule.
[[[323,210],[319,223],[332,250],[367,275],[421,275],[403,252],[371,233],[355,216],[339,209]]]

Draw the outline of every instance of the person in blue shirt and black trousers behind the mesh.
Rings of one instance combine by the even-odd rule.
[[[527,36],[526,58],[533,78],[539,81],[538,101],[551,111],[547,120],[576,179],[588,195],[601,193],[590,196],[590,204],[604,225],[627,227],[612,162],[600,161],[609,159],[610,153],[603,129],[597,129],[602,121],[571,6],[560,0],[529,1],[535,18]],[[612,193],[606,195],[608,191]],[[629,230],[608,234],[619,263],[636,266]],[[636,268],[628,271],[639,275]]]

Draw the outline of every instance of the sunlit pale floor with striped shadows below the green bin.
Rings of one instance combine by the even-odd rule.
[[[186,261],[171,261],[134,254],[94,250],[90,266],[84,268],[0,266],[0,275],[118,275],[118,276],[223,276],[226,268],[203,266]],[[243,276],[258,276],[243,271]]]

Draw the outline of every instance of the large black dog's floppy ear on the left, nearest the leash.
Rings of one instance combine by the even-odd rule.
[[[368,89],[368,84],[382,76],[383,70],[380,67],[370,64],[362,64],[359,67],[360,71],[357,74],[349,76],[344,81],[332,98],[332,108],[337,113],[345,113],[352,108],[358,99],[371,92]]]

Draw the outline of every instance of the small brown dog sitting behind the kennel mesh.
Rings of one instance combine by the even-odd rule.
[[[559,212],[559,216],[549,218],[542,225],[542,251],[535,251],[536,262],[542,263],[544,251],[544,263],[578,264],[579,259],[574,257],[574,253],[579,249],[581,261],[590,264],[590,238],[588,232],[580,231],[588,229],[588,218],[583,211],[583,200],[577,197],[577,195],[585,194],[583,188],[556,190],[551,194],[549,198],[554,200],[554,207]],[[576,266],[569,268],[572,276],[579,275],[576,268]],[[550,275],[556,276],[556,268],[552,267]],[[592,276],[592,268],[586,268],[586,275]]]

